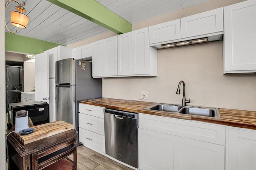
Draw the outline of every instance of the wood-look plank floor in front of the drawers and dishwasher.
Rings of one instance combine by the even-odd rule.
[[[73,154],[68,156],[73,160]],[[132,170],[82,145],[77,147],[78,170]]]

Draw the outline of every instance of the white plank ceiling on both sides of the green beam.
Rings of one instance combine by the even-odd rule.
[[[7,0],[5,0],[7,2]],[[208,0],[96,0],[130,23],[148,20]],[[22,2],[19,0],[19,2]],[[88,21],[46,0],[27,0],[25,13],[30,20],[26,29],[10,24],[10,11],[18,4],[10,2],[6,23],[18,35],[68,45],[107,32],[108,29]],[[6,32],[8,32],[6,30]]]

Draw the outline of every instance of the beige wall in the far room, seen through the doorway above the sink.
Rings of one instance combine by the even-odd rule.
[[[35,63],[24,62],[24,92],[31,92],[35,85]]]

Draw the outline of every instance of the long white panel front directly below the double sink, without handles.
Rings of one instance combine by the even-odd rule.
[[[140,113],[139,128],[225,145],[226,127],[223,125]]]

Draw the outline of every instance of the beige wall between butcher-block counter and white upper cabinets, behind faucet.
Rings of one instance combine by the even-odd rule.
[[[223,75],[222,41],[157,51],[157,77],[104,78],[102,96],[140,99],[148,91],[149,102],[181,104],[176,94],[184,80],[190,106],[256,111],[256,74]]]

